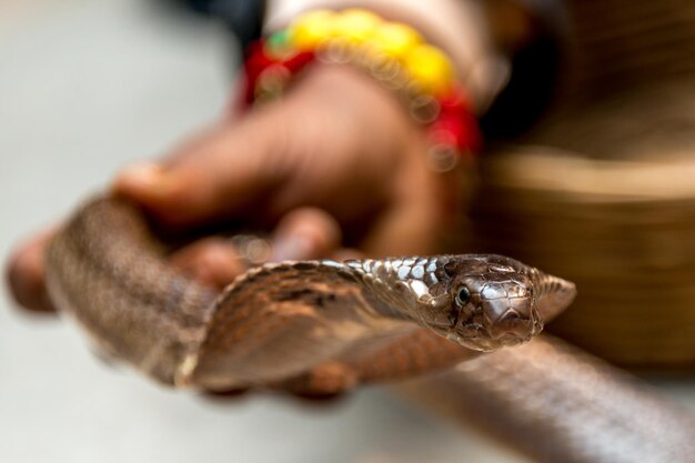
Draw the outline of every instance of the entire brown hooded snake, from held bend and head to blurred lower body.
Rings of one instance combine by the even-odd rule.
[[[138,207],[98,197],[46,254],[59,311],[160,383],[332,394],[419,376],[421,395],[537,461],[695,462],[686,413],[540,335],[576,289],[514,259],[265,263],[219,292],[173,269],[168,249]]]

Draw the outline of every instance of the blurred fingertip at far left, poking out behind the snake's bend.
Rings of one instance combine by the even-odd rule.
[[[54,234],[56,229],[50,229],[21,244],[10,258],[6,269],[6,278],[12,296],[30,311],[53,312],[56,310],[46,289],[43,264],[46,246]]]

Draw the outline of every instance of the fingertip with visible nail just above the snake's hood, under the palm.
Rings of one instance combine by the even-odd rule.
[[[273,261],[325,258],[340,246],[341,229],[335,219],[316,208],[286,213],[272,240]]]

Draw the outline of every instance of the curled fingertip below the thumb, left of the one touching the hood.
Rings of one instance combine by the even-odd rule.
[[[182,248],[171,255],[171,263],[202,284],[219,290],[246,270],[235,246],[222,238],[207,238]]]

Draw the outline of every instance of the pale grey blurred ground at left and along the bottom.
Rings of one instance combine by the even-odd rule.
[[[215,27],[143,0],[0,2],[0,260],[214,118],[231,52]],[[379,389],[329,407],[161,390],[101,364],[73,326],[20,313],[3,288],[1,462],[516,461],[476,440]]]

